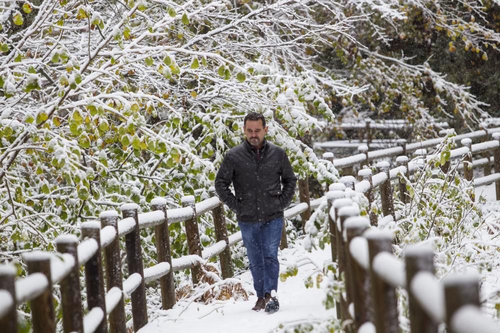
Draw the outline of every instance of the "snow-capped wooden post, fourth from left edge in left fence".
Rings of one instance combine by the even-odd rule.
[[[81,240],[92,238],[97,243],[97,251],[85,263],[85,285],[87,289],[87,308],[102,309],[104,318],[94,333],[107,333],[106,298],[104,296],[104,274],[102,272],[102,255],[100,247],[100,225],[98,222],[82,222],[80,225]]]

